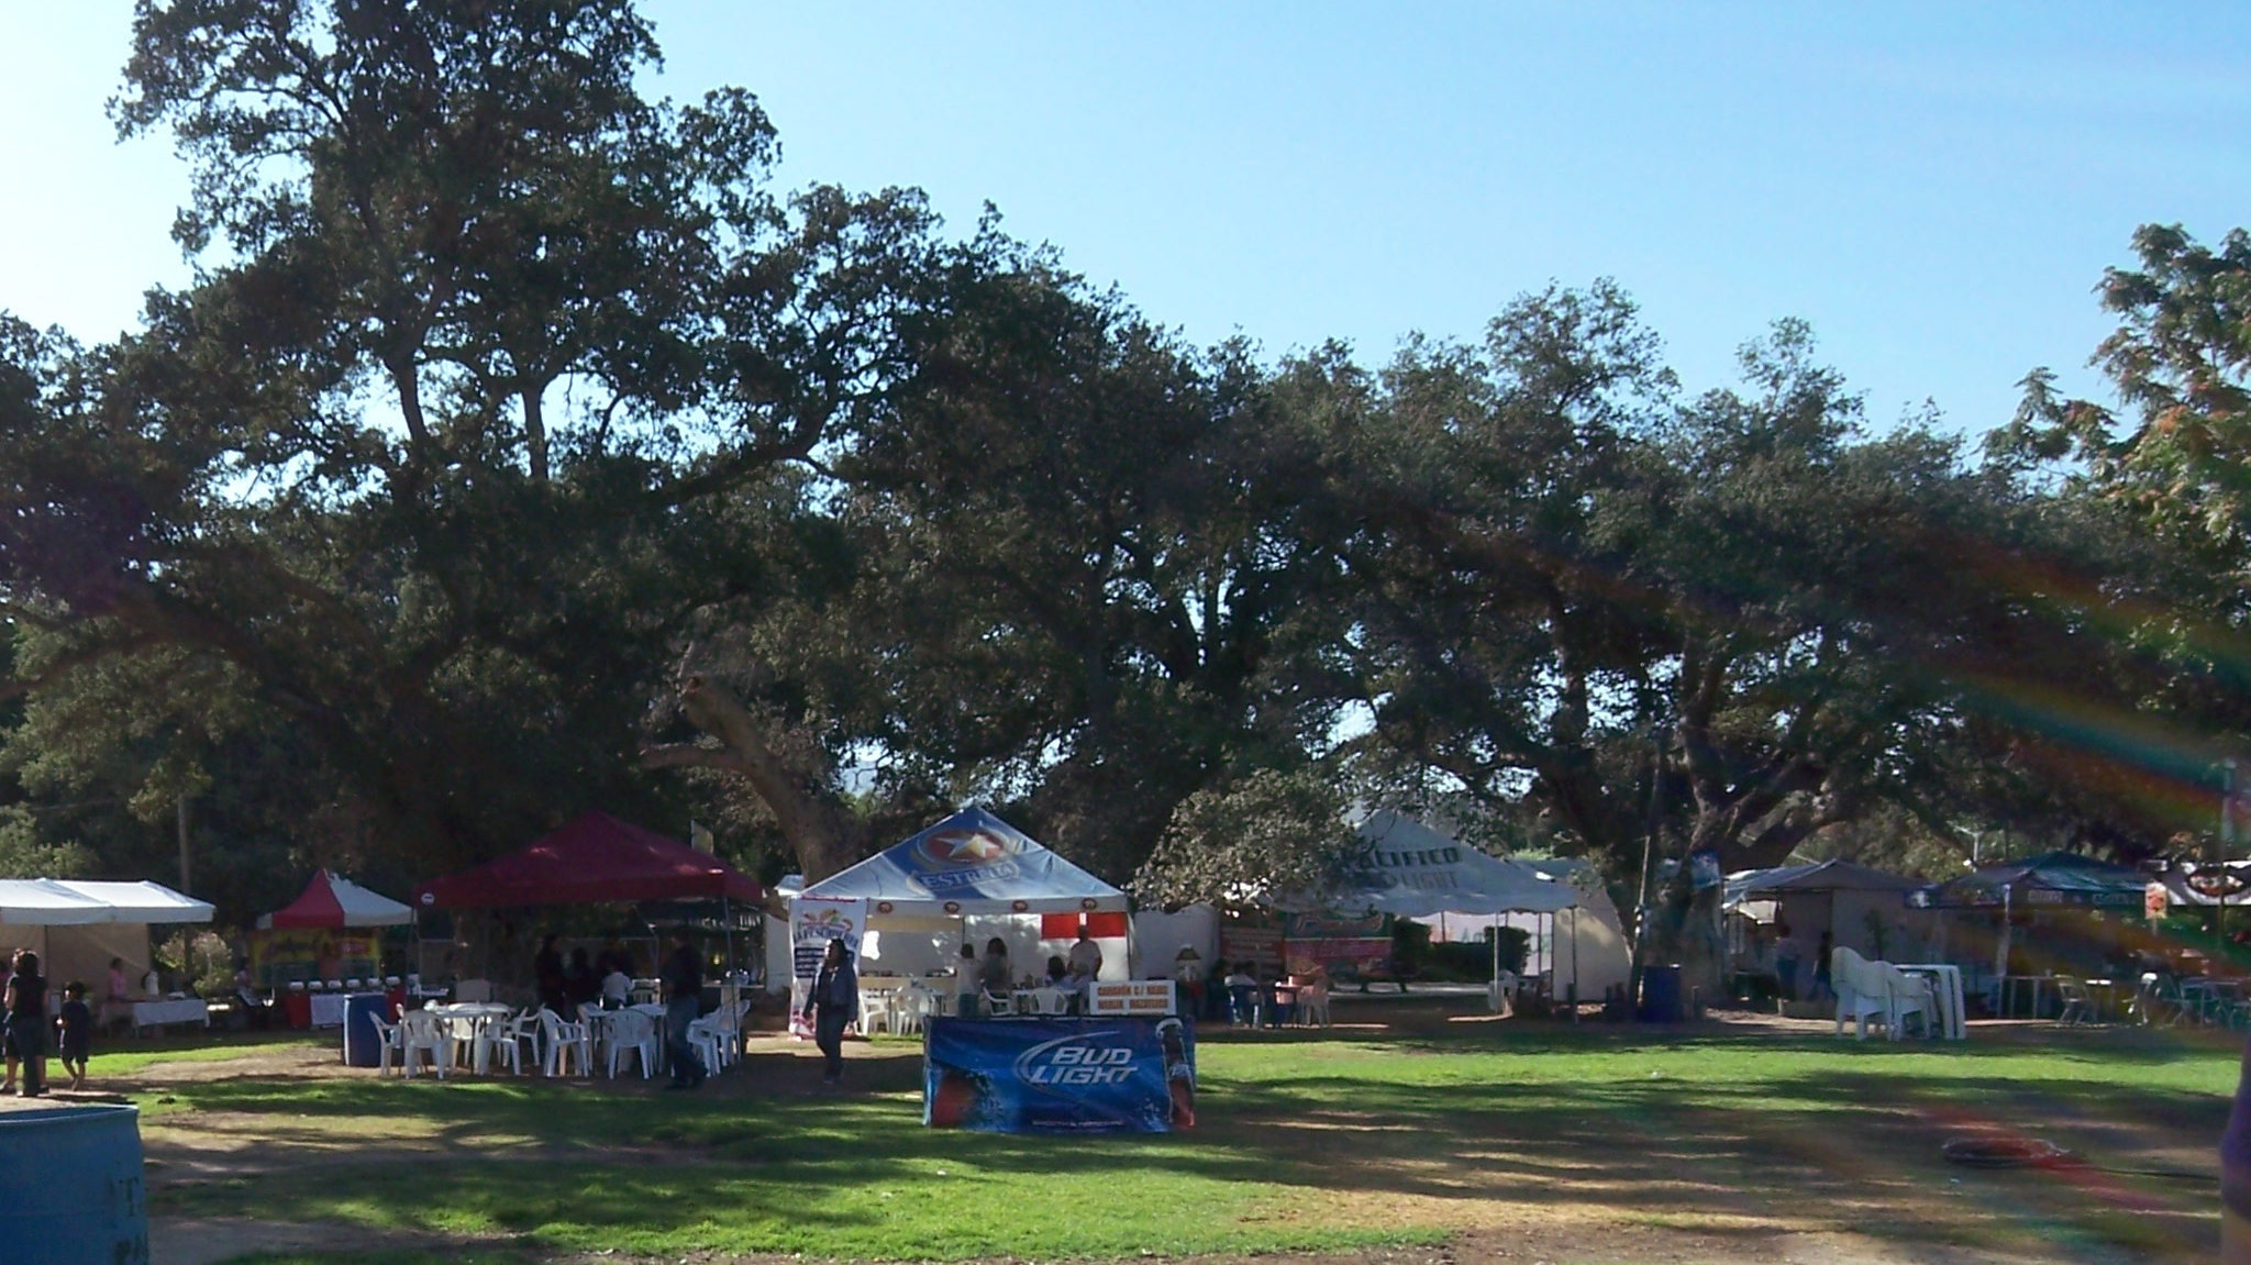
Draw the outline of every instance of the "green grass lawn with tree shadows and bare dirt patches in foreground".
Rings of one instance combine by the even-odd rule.
[[[1526,1218],[2192,1260],[2217,1236],[2210,1148],[2235,1087],[2224,1038],[2141,1031],[1956,1047],[1533,1024],[1213,1033],[1195,1132],[1038,1139],[923,1130],[916,1049],[864,1053],[842,1096],[810,1092],[808,1060],[779,1047],[698,1096],[367,1074],[169,1083],[144,1096],[162,1112],[151,1155],[221,1159],[167,1159],[153,1211],[470,1240],[383,1258],[401,1263],[1252,1254]],[[1961,1132],[2046,1137],[2098,1168],[1954,1170],[1938,1143]]]

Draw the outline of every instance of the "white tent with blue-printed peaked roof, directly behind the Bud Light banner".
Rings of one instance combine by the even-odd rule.
[[[1040,934],[1042,914],[1126,914],[1116,887],[1056,855],[1031,835],[963,808],[864,862],[801,891],[783,878],[795,907],[804,898],[867,900],[860,957],[869,970],[930,975],[952,970],[963,943],[999,939],[1017,975],[1035,972],[1067,945]],[[1123,921],[1123,918],[1121,918]],[[1130,977],[1130,939],[1096,936],[1101,979]],[[768,988],[790,979],[790,934],[768,923]]]

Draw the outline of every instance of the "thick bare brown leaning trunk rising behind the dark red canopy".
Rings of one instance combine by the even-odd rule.
[[[860,860],[864,831],[817,770],[792,768],[765,738],[759,718],[727,687],[700,675],[680,682],[680,707],[691,725],[720,741],[642,752],[644,768],[716,768],[741,774],[790,840],[806,882],[819,882]]]

